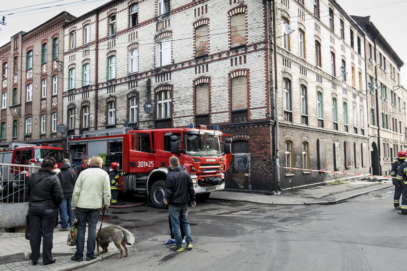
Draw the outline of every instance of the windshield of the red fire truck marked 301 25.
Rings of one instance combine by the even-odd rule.
[[[221,156],[219,136],[185,134],[186,151],[191,156]]]

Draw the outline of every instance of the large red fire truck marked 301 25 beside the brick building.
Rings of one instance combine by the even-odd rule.
[[[231,161],[231,139],[204,126],[108,132],[95,130],[68,137],[68,156],[77,169],[84,155],[98,155],[105,169],[118,162],[130,175],[119,180],[120,190],[147,194],[151,203],[164,208],[168,159],[178,156],[192,177],[198,199],[225,188],[224,172]],[[224,142],[222,142],[224,141]]]

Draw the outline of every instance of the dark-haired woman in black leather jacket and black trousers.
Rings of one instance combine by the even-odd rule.
[[[40,258],[41,237],[43,238],[43,263],[47,265],[55,262],[51,254],[52,239],[63,191],[60,180],[55,175],[54,166],[55,159],[47,157],[38,172],[33,173],[26,184],[33,265],[36,265]]]

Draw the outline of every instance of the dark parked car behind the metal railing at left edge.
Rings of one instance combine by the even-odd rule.
[[[25,184],[28,176],[27,172],[21,172],[11,180],[3,180],[0,183],[0,201],[5,203],[26,201]]]

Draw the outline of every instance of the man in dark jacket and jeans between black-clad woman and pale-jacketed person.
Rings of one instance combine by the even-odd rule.
[[[61,172],[57,174],[60,178],[63,190],[63,200],[60,205],[62,225],[60,231],[67,231],[68,226],[72,226],[74,220],[74,213],[72,212],[72,192],[74,191],[75,182],[77,180],[76,173],[71,169],[71,164],[68,159],[62,160]],[[67,223],[69,219],[69,225]]]

